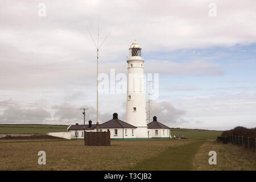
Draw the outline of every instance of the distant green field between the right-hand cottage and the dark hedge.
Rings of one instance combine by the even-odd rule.
[[[183,135],[189,139],[216,139],[220,137],[222,131],[172,131],[171,135]]]

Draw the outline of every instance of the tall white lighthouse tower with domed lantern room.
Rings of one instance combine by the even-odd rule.
[[[141,57],[141,46],[133,42],[129,48],[127,60],[127,105],[126,121],[136,126],[137,138],[148,138],[146,122],[146,93],[144,88],[144,60]]]

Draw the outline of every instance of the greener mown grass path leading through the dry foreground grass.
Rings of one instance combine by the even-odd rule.
[[[191,170],[193,168],[193,158],[199,147],[205,142],[205,140],[197,140],[182,146],[168,147],[167,150],[144,160],[131,170]]]

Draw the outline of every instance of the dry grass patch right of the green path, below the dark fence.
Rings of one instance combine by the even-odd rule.
[[[216,151],[217,164],[210,165],[208,160],[209,151]],[[193,160],[195,170],[256,170],[254,152],[245,150],[242,147],[232,144],[222,144],[217,142],[204,143],[197,152]]]

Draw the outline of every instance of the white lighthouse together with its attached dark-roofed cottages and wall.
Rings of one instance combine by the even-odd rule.
[[[146,122],[146,92],[144,88],[144,60],[141,56],[141,46],[135,41],[129,48],[127,60],[127,98],[126,122],[113,114],[113,119],[102,123],[99,131],[110,131],[110,138],[117,140],[170,138],[170,127],[158,122]],[[55,137],[67,139],[83,139],[85,132],[96,132],[97,125],[89,121],[89,125],[70,125],[67,132],[48,133]]]

